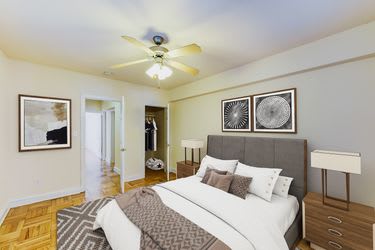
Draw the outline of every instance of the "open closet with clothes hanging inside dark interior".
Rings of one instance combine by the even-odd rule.
[[[168,178],[168,112],[165,107],[145,106],[145,179]]]

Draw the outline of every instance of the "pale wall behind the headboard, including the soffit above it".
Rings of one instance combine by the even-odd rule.
[[[309,152],[361,152],[362,175],[352,175],[352,199],[375,206],[374,39],[372,22],[171,90],[172,166],[184,158],[183,138],[206,139],[209,134],[305,138]],[[221,100],[292,87],[297,88],[296,135],[221,132]],[[342,195],[343,176],[330,177],[329,190]],[[320,187],[320,171],[309,167],[308,190],[320,192]]]

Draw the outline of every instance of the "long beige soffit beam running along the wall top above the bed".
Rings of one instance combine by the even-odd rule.
[[[375,55],[374,34],[375,21],[182,85],[170,91],[169,97],[181,100]]]

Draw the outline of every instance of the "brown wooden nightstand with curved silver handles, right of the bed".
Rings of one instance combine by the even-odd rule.
[[[335,203],[335,200],[329,201]],[[337,202],[337,201],[336,201]],[[303,238],[314,249],[375,249],[375,210],[350,203],[349,211],[324,206],[322,195],[308,193],[303,199]]]

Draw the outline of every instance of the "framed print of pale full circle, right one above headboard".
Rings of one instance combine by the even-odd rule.
[[[253,131],[297,133],[296,89],[253,96]]]

